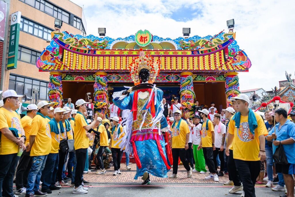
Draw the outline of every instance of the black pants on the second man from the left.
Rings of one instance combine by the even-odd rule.
[[[21,188],[27,188],[28,175],[31,169],[32,159],[30,152],[24,151],[19,159],[19,165],[17,167],[17,173],[15,175],[15,186],[17,190]]]

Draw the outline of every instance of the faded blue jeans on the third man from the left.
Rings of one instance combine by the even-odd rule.
[[[27,193],[34,194],[39,189],[39,182],[42,175],[42,171],[45,167],[46,159],[48,155],[33,156],[32,166],[28,175]]]

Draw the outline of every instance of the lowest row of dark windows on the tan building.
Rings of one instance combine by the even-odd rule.
[[[32,95],[32,90],[34,88],[39,89],[40,100],[48,100],[48,82],[42,82],[22,76],[9,76],[9,89],[15,90],[19,95],[25,94],[28,97],[35,97],[35,95]]]

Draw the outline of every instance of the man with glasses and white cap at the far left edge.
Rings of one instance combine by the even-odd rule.
[[[18,97],[14,90],[3,92],[3,107],[0,108],[0,196],[14,196],[13,177],[19,156],[19,148],[26,149],[25,132],[19,116],[12,109],[17,106]],[[2,192],[3,191],[3,192]]]

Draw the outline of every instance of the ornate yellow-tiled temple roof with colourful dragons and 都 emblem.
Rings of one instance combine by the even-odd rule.
[[[161,72],[245,72],[251,67],[247,54],[237,45],[234,32],[176,39],[153,36],[147,30],[117,39],[58,31],[51,35],[50,45],[36,62],[40,71],[128,71],[140,48],[155,61],[161,60]]]

